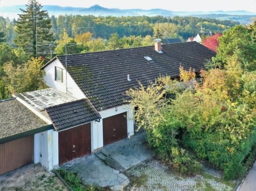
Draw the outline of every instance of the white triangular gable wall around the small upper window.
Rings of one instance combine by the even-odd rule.
[[[59,82],[55,80],[55,67],[64,69],[63,71],[63,82]],[[75,97],[76,99],[85,98],[83,92],[79,89],[79,87],[75,84],[74,80],[67,72],[67,88],[66,88],[66,69],[63,67],[61,62],[56,59],[51,62],[48,66],[44,68],[45,76],[43,78],[46,85],[55,88],[56,90],[64,93],[68,93]],[[66,92],[67,89],[67,92]]]

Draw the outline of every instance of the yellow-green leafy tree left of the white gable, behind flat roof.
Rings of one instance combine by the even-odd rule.
[[[43,60],[41,58],[32,58],[25,64],[17,67],[8,62],[3,69],[5,76],[3,81],[7,86],[8,92],[11,94],[20,92],[29,92],[43,88],[44,70],[41,69]]]

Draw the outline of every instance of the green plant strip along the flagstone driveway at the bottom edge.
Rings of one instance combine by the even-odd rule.
[[[62,168],[58,169],[58,173],[74,191],[111,191],[109,187],[101,188],[96,185],[83,184],[77,173],[66,172]]]

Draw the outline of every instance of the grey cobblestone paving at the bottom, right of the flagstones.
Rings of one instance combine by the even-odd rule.
[[[125,172],[128,176],[146,177],[145,183],[140,187],[132,189],[128,185],[126,191],[231,191],[232,188],[215,179],[205,178],[197,175],[193,177],[182,177],[173,173],[167,166],[155,159],[145,160],[137,166],[129,168]]]

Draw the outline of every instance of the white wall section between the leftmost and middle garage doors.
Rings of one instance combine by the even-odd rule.
[[[58,168],[58,132],[47,130],[34,135],[34,163],[50,171]]]

